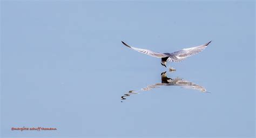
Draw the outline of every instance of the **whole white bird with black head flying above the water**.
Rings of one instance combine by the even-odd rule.
[[[147,55],[152,56],[152,57],[161,58],[161,65],[163,65],[165,67],[166,67],[166,61],[169,61],[169,62],[182,61],[182,60],[186,59],[187,57],[190,57],[190,56],[192,56],[196,53],[199,53],[199,52],[203,51],[208,46],[208,44],[210,44],[211,42],[212,41],[210,41],[210,42],[208,42],[204,45],[199,45],[199,46],[196,46],[196,47],[182,49],[180,51],[176,51],[176,52],[172,52],[172,53],[158,53],[158,52],[153,52],[151,50],[138,49],[136,47],[129,46],[129,45],[127,45],[126,43],[124,43],[122,41],[122,43],[125,46],[127,46],[127,47],[129,47],[133,50],[136,50],[138,52],[147,54]]]

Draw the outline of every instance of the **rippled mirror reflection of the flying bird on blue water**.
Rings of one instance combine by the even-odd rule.
[[[193,82],[181,79],[181,78],[168,78],[166,75],[166,71],[161,73],[161,83],[158,84],[152,84],[148,85],[145,88],[142,88],[138,91],[129,91],[128,93],[121,96],[121,100],[125,100],[126,96],[130,96],[132,94],[138,94],[135,92],[144,92],[144,91],[150,91],[154,88],[159,88],[161,86],[180,86],[181,88],[187,88],[187,89],[197,89],[200,92],[207,92],[206,89],[203,86],[193,84]]]

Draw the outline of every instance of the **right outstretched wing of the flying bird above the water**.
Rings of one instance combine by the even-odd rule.
[[[212,41],[210,41],[204,45],[199,45],[196,47],[191,47],[191,48],[183,49],[180,51],[176,51],[176,52],[172,52],[172,53],[164,53],[164,54],[169,56],[167,61],[179,62],[179,61],[186,59],[187,57],[193,56],[194,54],[203,51],[208,46],[208,44],[210,44],[211,42]]]

